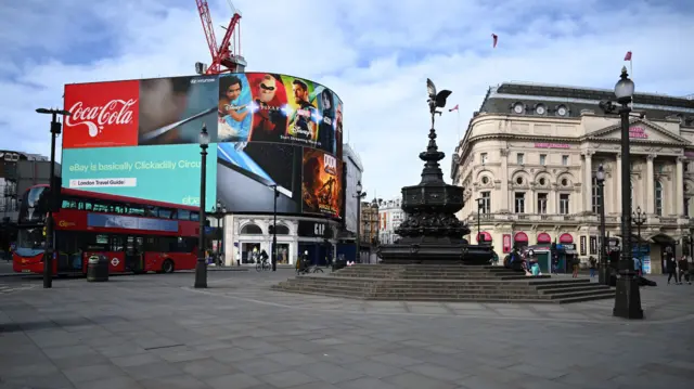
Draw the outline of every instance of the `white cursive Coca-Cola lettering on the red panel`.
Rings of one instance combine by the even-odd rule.
[[[106,125],[129,125],[132,122],[132,106],[138,101],[112,100],[101,106],[85,106],[77,102],[68,111],[72,114],[65,118],[65,126],[85,125],[89,129],[89,137],[95,138]]]

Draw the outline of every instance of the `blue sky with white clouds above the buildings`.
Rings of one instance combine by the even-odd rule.
[[[208,0],[217,38],[232,12]],[[210,54],[194,0],[43,0],[0,4],[0,150],[49,155],[65,83],[194,74]],[[689,0],[234,0],[247,72],[308,78],[344,102],[345,140],[371,198],[420,182],[429,128],[426,78],[453,91],[437,119],[441,163],[490,86],[609,88],[627,51],[637,90],[694,93]],[[491,34],[499,36],[492,49]],[[685,39],[686,38],[686,39]],[[59,142],[60,143],[60,142]],[[59,151],[60,155],[60,151]]]

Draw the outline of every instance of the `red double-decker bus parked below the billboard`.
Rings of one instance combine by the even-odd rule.
[[[23,196],[13,269],[43,273],[48,185]],[[126,196],[62,189],[53,212],[53,274],[85,274],[93,255],[108,259],[111,273],[195,269],[200,208]]]

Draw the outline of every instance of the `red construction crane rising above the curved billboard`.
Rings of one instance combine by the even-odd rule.
[[[231,3],[231,0],[228,1],[233,16],[229,22],[229,26],[224,28],[226,33],[221,44],[218,46],[207,0],[195,0],[200,20],[203,23],[205,38],[207,38],[209,53],[213,55],[213,62],[209,66],[205,66],[200,62],[195,64],[195,70],[198,74],[218,75],[220,73],[240,73],[244,72],[246,67],[246,60],[241,55],[241,26],[239,24],[241,14]]]

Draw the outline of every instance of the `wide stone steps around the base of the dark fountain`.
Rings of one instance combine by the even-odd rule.
[[[614,298],[588,278],[526,276],[501,267],[355,264],[327,275],[299,275],[272,289],[362,300],[569,303]]]

